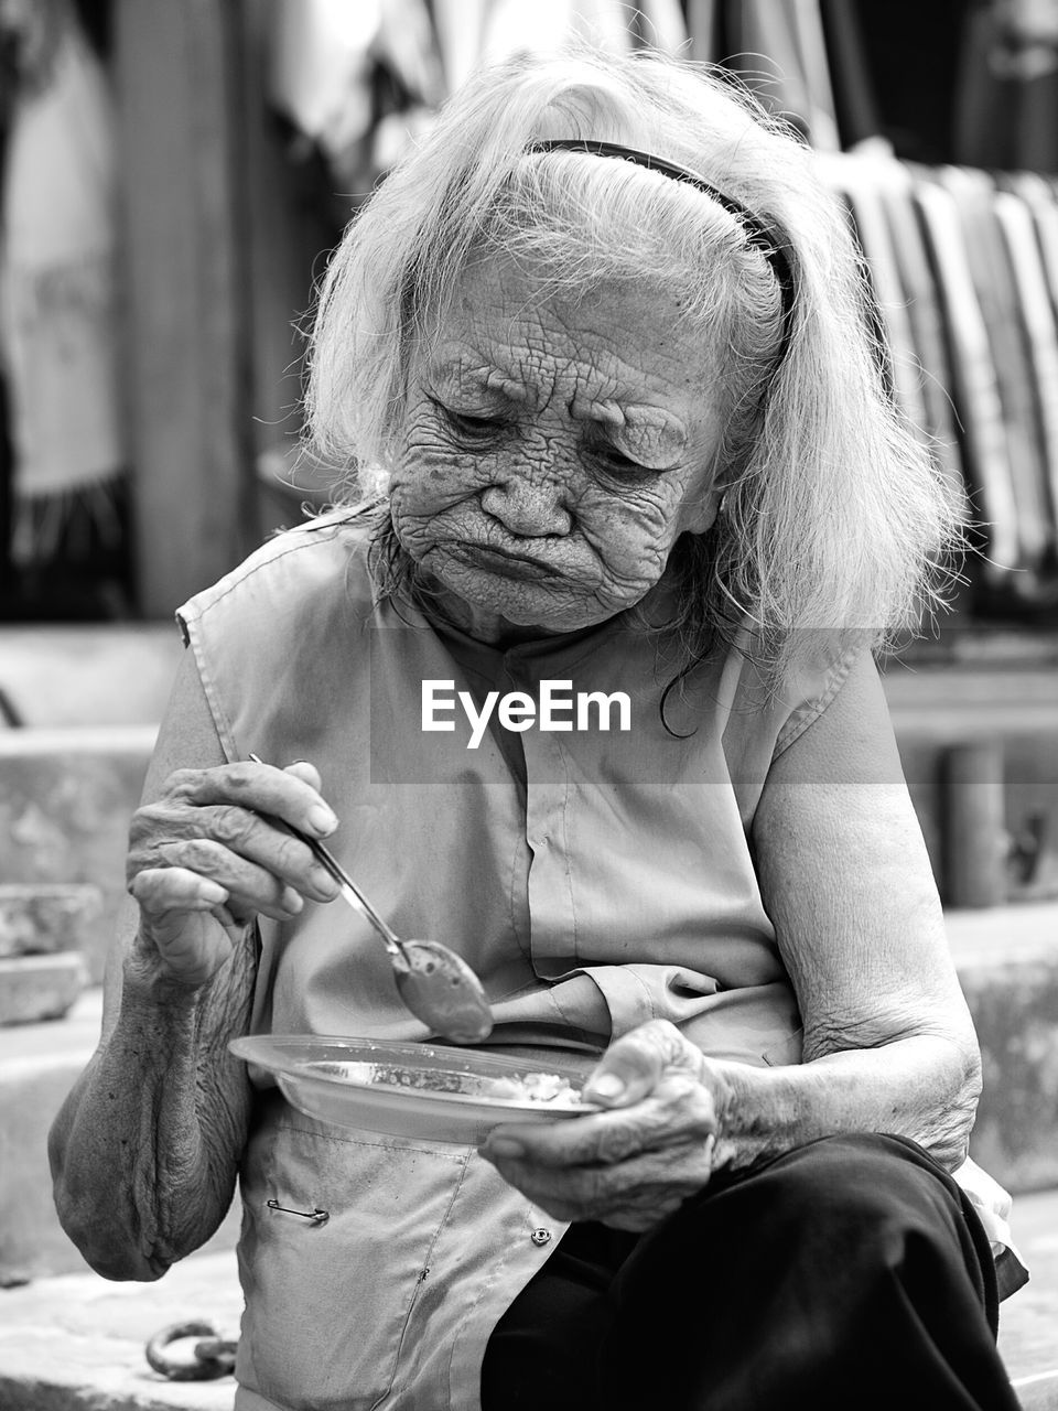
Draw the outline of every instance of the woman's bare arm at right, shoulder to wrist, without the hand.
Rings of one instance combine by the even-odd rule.
[[[834,1132],[966,1156],[979,1054],[882,684],[862,660],[780,756],[753,840],[804,1020],[800,1068],[735,1070],[717,1160]]]

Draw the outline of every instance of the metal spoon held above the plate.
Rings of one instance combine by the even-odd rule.
[[[255,765],[264,763],[257,755],[250,758]],[[402,941],[329,848],[285,818],[275,821],[312,849],[320,866],[339,883],[343,899],[375,928],[394,967],[398,993],[415,1017],[456,1044],[487,1038],[492,1031],[492,1012],[481,981],[463,957],[440,941]]]

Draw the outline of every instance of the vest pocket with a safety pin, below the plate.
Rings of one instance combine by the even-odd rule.
[[[289,1411],[370,1411],[466,1158],[299,1115],[265,1122],[243,1168],[238,1381]]]

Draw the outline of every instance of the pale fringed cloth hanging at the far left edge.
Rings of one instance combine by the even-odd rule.
[[[49,557],[75,501],[120,533],[116,162],[106,76],[73,11],[49,80],[16,96],[3,182],[0,356],[14,460],[13,555]]]

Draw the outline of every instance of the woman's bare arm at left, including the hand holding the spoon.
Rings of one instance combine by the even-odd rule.
[[[305,824],[317,785],[310,766],[224,763],[188,653],[133,820],[103,1034],[49,1137],[59,1219],[109,1278],[158,1278],[230,1205],[250,1119],[227,1053],[250,1016],[248,923],[333,895],[308,848],[251,809]]]

